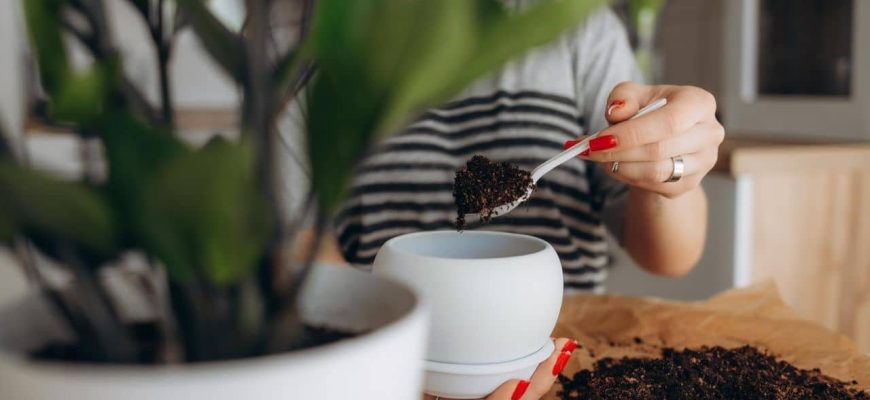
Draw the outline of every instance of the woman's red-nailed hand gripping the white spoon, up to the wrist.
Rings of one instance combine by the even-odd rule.
[[[668,100],[664,108],[626,121],[661,98]],[[581,158],[605,163],[612,177],[675,198],[696,188],[716,164],[725,131],[716,120],[716,100],[709,92],[623,82],[610,93],[607,104],[604,112],[611,126],[590,141],[591,151]],[[682,177],[667,182],[679,172],[675,165],[680,158]]]

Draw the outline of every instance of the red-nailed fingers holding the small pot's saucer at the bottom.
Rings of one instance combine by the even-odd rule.
[[[538,365],[531,379],[527,381],[509,380],[487,396],[486,400],[537,400],[544,397],[550,391],[556,377],[568,364],[571,354],[577,347],[577,342],[566,338],[555,339],[553,342],[556,345],[556,350]],[[435,397],[424,395],[423,399],[434,400]],[[446,400],[444,397],[439,400],[441,399]]]

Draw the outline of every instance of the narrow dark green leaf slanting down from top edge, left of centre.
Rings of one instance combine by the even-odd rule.
[[[202,0],[178,0],[179,10],[186,14],[196,36],[212,59],[236,82],[245,82],[247,68],[242,38],[209,11]]]

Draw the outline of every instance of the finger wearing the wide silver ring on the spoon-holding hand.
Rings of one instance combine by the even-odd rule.
[[[683,176],[704,175],[716,164],[716,149],[704,150],[681,156],[683,158]],[[671,159],[660,161],[620,162],[616,172],[612,164],[606,165],[613,177],[631,185],[658,185],[665,183],[674,173],[674,162]]]

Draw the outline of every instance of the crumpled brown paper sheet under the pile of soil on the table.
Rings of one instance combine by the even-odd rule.
[[[870,389],[870,355],[849,338],[801,319],[780,298],[773,282],[721,293],[704,302],[677,303],[623,296],[566,297],[556,336],[577,339],[563,374],[590,369],[604,357],[657,357],[662,347],[726,348],[752,345],[798,368],[819,368]],[[635,338],[643,343],[636,344]],[[555,399],[558,385],[548,398]]]

